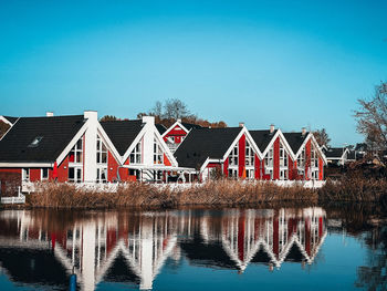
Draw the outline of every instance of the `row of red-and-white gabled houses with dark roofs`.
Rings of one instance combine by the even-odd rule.
[[[326,157],[312,133],[238,127],[208,128],[153,116],[100,122],[83,115],[7,117],[0,141],[1,189],[10,181],[203,181],[224,177],[323,180]]]

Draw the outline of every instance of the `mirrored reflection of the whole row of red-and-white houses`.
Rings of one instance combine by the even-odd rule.
[[[167,259],[244,272],[284,261],[312,264],[326,237],[325,211],[304,209],[153,212],[0,212],[1,272],[39,289],[100,282],[153,289]]]

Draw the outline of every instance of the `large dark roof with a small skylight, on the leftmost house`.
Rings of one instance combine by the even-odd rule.
[[[52,163],[84,122],[83,115],[20,117],[0,141],[0,162]],[[38,146],[31,146],[36,137]]]

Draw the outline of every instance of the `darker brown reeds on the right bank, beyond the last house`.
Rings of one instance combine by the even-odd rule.
[[[345,176],[337,181],[327,180],[318,190],[322,201],[375,201],[384,202],[387,196],[387,180]]]

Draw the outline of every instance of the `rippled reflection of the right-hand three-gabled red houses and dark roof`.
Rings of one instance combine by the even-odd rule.
[[[195,263],[240,271],[249,263],[312,263],[326,236],[321,208],[226,210],[221,221],[212,221],[212,230],[209,220],[213,216],[200,218],[196,235],[180,247]]]

